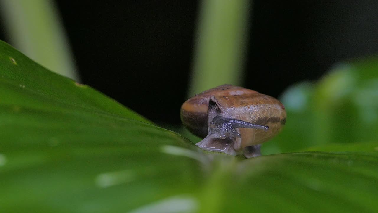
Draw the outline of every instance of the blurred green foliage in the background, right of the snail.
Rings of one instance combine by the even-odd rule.
[[[370,143],[366,151],[375,152],[377,70],[378,57],[351,60],[332,67],[317,83],[303,82],[289,88],[281,97],[287,111],[286,127],[263,144],[263,153],[295,152],[306,147],[328,151],[329,143],[349,144],[350,148],[350,144]]]

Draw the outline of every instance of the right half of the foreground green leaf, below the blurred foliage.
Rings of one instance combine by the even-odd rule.
[[[203,212],[375,212],[377,157],[304,152],[227,162],[208,180],[214,193],[201,197]]]

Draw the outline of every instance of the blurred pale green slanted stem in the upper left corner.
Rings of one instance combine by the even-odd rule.
[[[9,42],[46,68],[70,77],[79,77],[68,39],[53,1],[0,0]]]

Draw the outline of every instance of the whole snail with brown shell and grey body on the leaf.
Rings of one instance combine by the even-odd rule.
[[[201,149],[250,158],[260,156],[260,144],[280,132],[286,111],[271,96],[222,85],[184,102],[180,117],[191,133],[203,138],[196,144]]]

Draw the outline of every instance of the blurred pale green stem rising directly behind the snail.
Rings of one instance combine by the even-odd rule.
[[[242,83],[251,5],[249,0],[202,1],[189,96]]]

